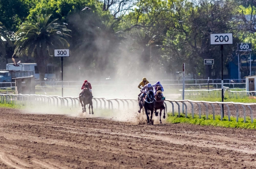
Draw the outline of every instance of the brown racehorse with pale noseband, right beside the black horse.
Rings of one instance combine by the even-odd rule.
[[[155,103],[155,115],[158,116],[158,112],[156,110],[160,109],[160,123],[162,123],[161,120],[161,115],[162,115],[162,110],[164,110],[164,116],[163,118],[165,119],[165,107],[164,107],[164,99],[162,98],[162,89],[161,86],[156,87],[156,103]]]

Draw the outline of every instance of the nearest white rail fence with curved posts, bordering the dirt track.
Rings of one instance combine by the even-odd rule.
[[[10,103],[10,104],[32,104],[33,101],[38,101],[41,104],[48,104],[57,107],[77,107],[80,106],[80,102],[78,97],[60,97],[60,96],[46,96],[46,95],[28,95],[28,94],[0,94],[1,103]],[[107,98],[93,98],[96,102],[96,108],[104,108],[106,109],[114,109],[113,102],[117,103],[117,109],[120,110],[121,103],[123,105],[123,109],[127,108],[137,108],[138,100],[137,99],[107,99]],[[194,118],[195,107],[198,107],[199,118],[202,115],[202,108],[205,107],[206,119],[208,119],[209,115],[209,107],[212,107],[212,115],[213,120],[215,120],[215,106],[220,108],[221,120],[223,120],[222,116],[222,104],[228,109],[228,121],[230,121],[230,107],[233,106],[236,108],[236,121],[238,122],[239,117],[239,108],[241,106],[243,108],[243,117],[244,122],[246,122],[246,107],[250,110],[250,118],[253,123],[253,113],[252,108],[250,106],[255,106],[256,103],[235,103],[235,102],[208,102],[208,101],[193,101],[193,100],[169,100],[166,99],[165,110],[167,112],[167,104],[169,102],[172,104],[172,115],[174,115],[174,108],[178,106],[178,116],[180,117],[180,105],[185,106],[185,116],[188,117],[188,106],[191,106],[191,114],[192,118]],[[132,104],[132,107],[130,106]],[[136,104],[136,107],[135,107]],[[176,106],[176,107],[177,107]],[[203,107],[202,107],[203,106]],[[95,104],[94,104],[95,107]]]

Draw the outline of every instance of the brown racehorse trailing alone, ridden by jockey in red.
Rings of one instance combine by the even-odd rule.
[[[85,85],[84,90],[79,94],[79,101],[83,107],[83,113],[86,112],[85,106],[89,104],[89,114],[91,114],[91,110],[90,110],[91,107],[92,107],[92,114],[94,114],[93,106],[92,106],[92,93],[89,90],[88,84]]]

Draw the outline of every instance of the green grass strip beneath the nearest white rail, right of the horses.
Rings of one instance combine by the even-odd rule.
[[[236,117],[230,117],[230,121],[228,121],[228,116],[224,116],[223,120],[220,120],[220,115],[215,115],[215,120],[213,120],[212,115],[208,115],[208,120],[206,120],[206,115],[201,115],[201,119],[199,119],[199,115],[195,114],[194,119],[192,118],[192,114],[188,114],[188,118],[185,117],[185,114],[180,114],[180,118],[178,114],[175,113],[174,116],[168,113],[167,121],[170,123],[189,123],[189,124],[197,124],[201,126],[219,126],[225,128],[238,128],[238,129],[256,129],[256,121],[251,123],[251,119],[246,117],[246,123],[244,123],[244,118],[238,118],[238,122],[236,122]]]

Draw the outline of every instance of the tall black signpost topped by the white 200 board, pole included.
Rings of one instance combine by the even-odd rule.
[[[211,45],[220,45],[221,55],[221,101],[224,101],[223,91],[223,45],[233,44],[233,33],[211,33]],[[224,117],[224,106],[222,104],[222,117]]]

